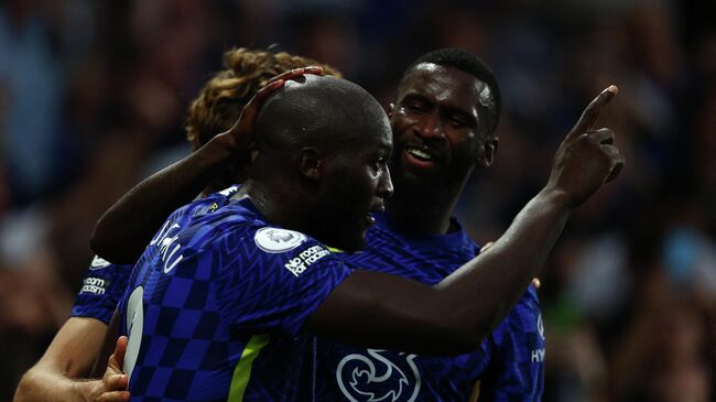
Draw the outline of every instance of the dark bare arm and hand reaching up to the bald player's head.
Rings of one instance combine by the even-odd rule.
[[[283,73],[260,89],[247,104],[242,117],[228,131],[209,140],[196,152],[140,182],[97,221],[91,249],[115,262],[133,264],[166,217],[194,199],[229,165],[242,163],[253,141],[253,121],[263,100],[286,79],[304,74],[322,74],[311,66]]]

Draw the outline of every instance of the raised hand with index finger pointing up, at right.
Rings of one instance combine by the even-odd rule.
[[[584,109],[554,156],[547,187],[566,194],[572,207],[614,180],[623,166],[623,155],[614,145],[614,131],[596,129],[601,111],[617,91],[616,86],[609,86]]]

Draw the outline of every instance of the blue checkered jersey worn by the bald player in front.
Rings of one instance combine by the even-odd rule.
[[[315,343],[303,325],[350,272],[248,198],[176,210],[120,304],[132,401],[311,400]]]

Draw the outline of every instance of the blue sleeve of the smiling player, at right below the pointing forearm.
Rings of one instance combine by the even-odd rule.
[[[530,286],[486,339],[490,362],[480,381],[488,401],[539,401],[544,388],[544,327],[536,291]]]

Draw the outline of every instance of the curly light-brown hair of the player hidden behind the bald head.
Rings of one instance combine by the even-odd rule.
[[[284,72],[312,65],[323,66],[324,75],[341,77],[334,67],[315,59],[280,52],[246,47],[224,53],[224,68],[202,88],[186,112],[186,139],[194,150],[236,122],[243,106],[265,83]]]

